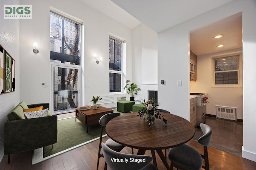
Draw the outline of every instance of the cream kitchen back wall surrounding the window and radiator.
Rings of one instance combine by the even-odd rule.
[[[197,80],[190,81],[190,92],[207,92],[208,102],[207,114],[216,115],[215,106],[237,107],[237,119],[243,119],[243,81],[242,81],[242,49],[234,49],[223,51],[220,53],[212,53],[197,56]],[[212,57],[221,57],[224,55],[240,54],[240,85],[228,87],[212,86]]]

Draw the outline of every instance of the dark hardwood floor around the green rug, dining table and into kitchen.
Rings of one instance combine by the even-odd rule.
[[[74,113],[71,113],[70,115],[74,116]],[[61,119],[70,115],[63,114],[58,117]],[[208,147],[210,170],[256,169],[256,162],[239,156],[239,154],[241,155],[243,138],[242,123],[212,117],[207,117],[205,123],[213,129],[211,146]],[[198,139],[201,135],[202,132],[200,128],[196,128],[194,139]],[[103,142],[107,139],[108,137],[104,137]],[[203,153],[202,145],[200,145],[196,140],[191,140],[188,144]],[[35,165],[31,164],[32,151],[11,154],[10,164],[8,164],[8,155],[4,155],[4,158],[0,162],[0,170],[96,170],[98,146],[99,140]],[[136,149],[134,150],[136,152]],[[131,149],[125,147],[121,152],[130,154]],[[151,152],[146,151],[146,154],[151,155]],[[158,163],[158,170],[165,170],[166,168],[157,154],[156,159]],[[168,163],[170,164],[169,160]],[[104,158],[100,158],[99,170],[103,169]]]

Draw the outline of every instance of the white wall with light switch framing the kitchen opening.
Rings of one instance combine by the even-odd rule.
[[[244,147],[242,156],[256,161],[256,1],[236,0],[158,34],[158,100],[171,113],[189,120],[189,31],[242,12]],[[177,86],[182,80],[182,86]]]

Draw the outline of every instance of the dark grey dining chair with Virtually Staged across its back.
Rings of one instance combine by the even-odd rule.
[[[101,145],[105,161],[111,170],[157,170],[156,166],[150,163],[153,159],[151,156],[124,154],[110,149],[104,143]]]

